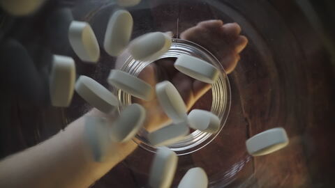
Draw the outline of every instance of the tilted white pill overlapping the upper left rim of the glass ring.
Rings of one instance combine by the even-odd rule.
[[[131,42],[129,52],[137,60],[154,61],[168,52],[171,42],[171,37],[165,33],[147,33]]]

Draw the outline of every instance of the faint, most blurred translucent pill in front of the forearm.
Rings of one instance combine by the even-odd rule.
[[[85,117],[85,135],[96,162],[103,162],[113,143],[110,140],[107,120],[98,117]]]

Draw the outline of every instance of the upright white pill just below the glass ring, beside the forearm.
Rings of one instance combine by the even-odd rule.
[[[151,165],[149,185],[152,188],[168,188],[177,169],[178,157],[169,148],[159,148]]]

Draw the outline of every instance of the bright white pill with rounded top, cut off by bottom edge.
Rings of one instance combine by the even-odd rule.
[[[200,167],[189,169],[181,178],[178,188],[207,188],[208,178],[206,172]]]

